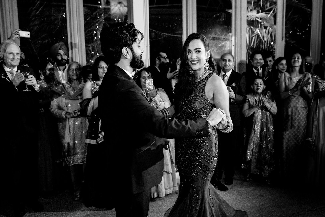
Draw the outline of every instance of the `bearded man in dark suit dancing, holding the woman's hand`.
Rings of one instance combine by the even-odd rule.
[[[109,170],[103,172],[109,173],[107,207],[115,208],[117,217],[148,215],[150,188],[162,180],[162,148],[168,143],[162,138],[205,136],[222,118],[214,109],[208,121],[180,121],[151,106],[131,75],[133,68],[144,66],[142,39],[143,34],[127,22],[111,24],[100,34],[101,50],[110,61],[98,92],[109,150]]]

